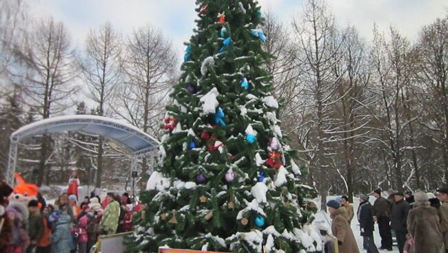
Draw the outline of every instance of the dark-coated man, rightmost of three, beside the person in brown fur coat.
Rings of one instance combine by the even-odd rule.
[[[405,201],[403,192],[396,192],[395,203],[392,206],[391,228],[396,232],[398,251],[403,253],[407,234],[407,214],[409,213],[409,203]]]

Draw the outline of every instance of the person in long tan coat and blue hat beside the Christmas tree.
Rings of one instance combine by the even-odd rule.
[[[328,201],[327,206],[332,218],[332,233],[338,239],[338,252],[359,253],[355,236],[347,221],[345,209],[340,209],[340,203],[334,199]]]

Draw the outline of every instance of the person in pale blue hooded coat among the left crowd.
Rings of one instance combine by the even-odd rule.
[[[70,236],[71,233],[71,223],[72,218],[68,215],[67,210],[63,208],[63,210],[56,211],[54,214],[54,218],[51,218],[50,221],[56,219],[54,221],[53,234],[51,236],[52,253],[70,253]],[[53,215],[53,214],[52,214]]]

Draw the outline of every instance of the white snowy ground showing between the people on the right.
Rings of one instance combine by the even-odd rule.
[[[335,196],[327,197],[327,200],[330,200],[330,199],[336,199],[336,197]],[[356,219],[356,211],[358,210],[359,199],[354,197],[353,200],[354,200],[354,203],[352,203],[352,206],[354,208],[355,217],[353,218],[352,224],[351,224],[352,230],[356,237],[356,243],[358,243],[358,248],[360,249],[360,252],[366,252],[365,250],[363,250],[363,237],[360,236],[359,223],[358,223],[358,220]],[[369,200],[370,200],[370,203],[373,205],[375,198],[371,196]],[[320,199],[315,199],[315,201],[317,203],[320,203]],[[327,213],[318,212],[316,214],[316,221],[325,221],[325,223],[329,223],[331,221],[331,219],[329,218],[329,215]],[[380,247],[380,245],[381,245],[381,237],[380,237],[380,234],[378,231],[379,231],[378,224],[375,223],[374,239],[375,239],[375,244],[376,244],[377,248]],[[394,248],[394,251],[392,251],[392,252],[398,253],[398,248],[396,247],[396,245],[394,245],[393,248]],[[388,252],[388,251],[381,251],[381,250],[378,250],[378,251],[379,252]]]

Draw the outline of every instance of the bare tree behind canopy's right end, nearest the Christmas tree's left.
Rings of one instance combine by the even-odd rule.
[[[125,81],[117,91],[114,112],[145,133],[159,134],[167,94],[174,82],[176,54],[163,34],[151,25],[134,31],[125,45]],[[143,159],[143,179],[147,178]]]

